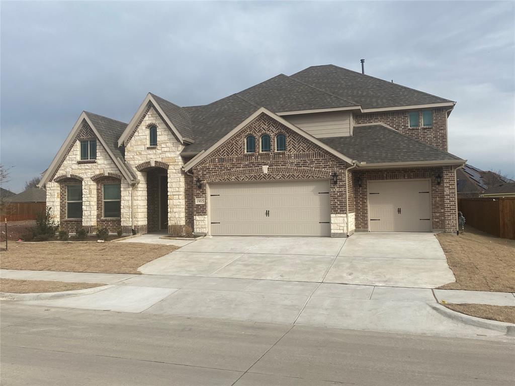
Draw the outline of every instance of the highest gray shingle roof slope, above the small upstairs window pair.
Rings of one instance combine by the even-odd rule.
[[[308,67],[290,77],[360,104],[363,109],[452,102],[333,64]]]

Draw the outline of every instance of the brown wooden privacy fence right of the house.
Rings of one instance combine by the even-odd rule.
[[[515,239],[515,197],[461,198],[458,210],[467,225],[491,235]]]

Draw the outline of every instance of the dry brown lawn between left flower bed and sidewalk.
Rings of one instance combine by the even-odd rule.
[[[140,273],[138,267],[176,250],[174,245],[125,242],[9,243],[0,268],[37,271]]]

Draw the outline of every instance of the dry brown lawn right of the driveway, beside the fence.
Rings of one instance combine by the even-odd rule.
[[[436,235],[455,283],[441,289],[515,291],[515,240],[501,239],[467,227],[459,236]]]

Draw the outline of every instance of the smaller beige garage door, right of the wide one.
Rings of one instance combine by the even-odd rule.
[[[369,181],[371,232],[431,232],[428,180]]]

